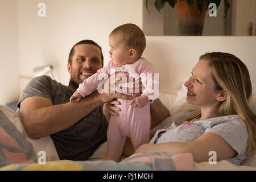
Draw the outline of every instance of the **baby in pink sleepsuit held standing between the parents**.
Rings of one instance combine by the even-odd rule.
[[[97,73],[84,80],[70,98],[70,101],[79,102],[81,97],[88,96],[96,90],[102,82],[100,79],[102,75],[109,77],[114,72],[128,72],[137,83],[141,78],[141,82],[145,86],[142,95],[135,97],[133,93],[126,93],[133,96],[133,100],[118,99],[121,102],[119,116],[111,115],[110,117],[107,133],[107,159],[118,162],[126,137],[131,138],[135,150],[142,144],[149,142],[150,103],[155,99],[151,97],[154,93],[152,88],[154,86],[159,88],[159,83],[158,78],[152,79],[154,68],[150,61],[141,57],[146,47],[146,38],[141,28],[131,23],[115,28],[109,35],[109,46],[109,54],[112,60],[105,68],[99,69]],[[148,75],[151,77],[148,78]]]

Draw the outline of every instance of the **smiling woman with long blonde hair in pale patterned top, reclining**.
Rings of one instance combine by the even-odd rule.
[[[155,135],[150,143],[135,154],[191,152],[195,162],[203,162],[215,151],[217,160],[237,165],[254,155],[256,115],[248,104],[252,88],[245,64],[229,53],[205,53],[185,86],[187,102],[199,106],[200,112],[185,111],[164,119],[151,130]]]

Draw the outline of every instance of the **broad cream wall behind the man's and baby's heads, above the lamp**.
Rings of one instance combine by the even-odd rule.
[[[38,4],[46,4],[46,17]],[[52,63],[56,80],[68,84],[68,55],[82,39],[101,45],[109,61],[110,32],[124,23],[142,28],[142,0],[22,0],[18,1],[20,75],[32,76],[34,67]]]

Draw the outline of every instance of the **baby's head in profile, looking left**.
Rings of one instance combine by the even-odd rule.
[[[146,47],[143,31],[132,23],[122,24],[109,35],[110,58],[115,65],[133,64]]]

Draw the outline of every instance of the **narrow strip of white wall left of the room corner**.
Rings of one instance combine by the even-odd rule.
[[[0,0],[0,104],[18,97],[19,54],[16,0]]]

